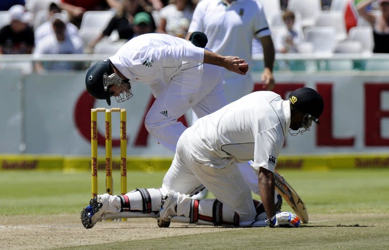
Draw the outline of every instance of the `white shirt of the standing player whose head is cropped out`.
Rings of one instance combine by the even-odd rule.
[[[269,0],[276,1],[276,0]],[[222,56],[239,56],[252,64],[254,37],[270,35],[262,5],[255,0],[235,0],[229,6],[221,0],[202,0],[193,13],[188,32],[202,31],[207,48]],[[236,73],[227,72],[226,78]]]

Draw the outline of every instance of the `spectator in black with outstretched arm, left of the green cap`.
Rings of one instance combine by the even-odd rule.
[[[119,39],[130,40],[134,36],[134,16],[142,11],[138,0],[123,0],[118,14],[109,21],[104,31],[88,44],[88,50],[93,51],[95,45],[113,30],[118,31]]]

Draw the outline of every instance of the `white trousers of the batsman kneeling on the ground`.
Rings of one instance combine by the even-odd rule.
[[[240,222],[255,221],[256,211],[251,189],[246,184],[238,166],[232,163],[223,169],[215,169],[197,163],[191,154],[189,130],[184,131],[177,143],[177,151],[171,167],[166,173],[162,190],[174,190],[190,194],[203,184],[216,199],[232,211],[238,213]]]

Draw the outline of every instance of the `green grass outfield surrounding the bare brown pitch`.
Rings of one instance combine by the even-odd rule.
[[[310,216],[298,229],[247,228],[60,249],[389,249],[389,170],[280,172]],[[104,173],[99,175],[102,192]],[[163,176],[128,172],[129,190],[159,187]],[[114,193],[117,180],[119,172]],[[0,171],[0,190],[0,215],[79,214],[91,196],[90,173]],[[291,211],[286,203],[283,210]]]

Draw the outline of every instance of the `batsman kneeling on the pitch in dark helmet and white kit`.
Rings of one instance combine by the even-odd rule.
[[[312,88],[292,91],[285,101],[271,91],[250,93],[183,132],[161,188],[97,195],[82,211],[82,223],[91,228],[102,219],[157,217],[160,227],[169,227],[171,221],[299,227],[297,215],[281,212],[274,172],[288,130],[297,135],[309,130],[312,122],[319,124],[323,108],[322,97]],[[258,178],[260,202],[253,200],[238,167],[250,160],[246,166]],[[216,198],[191,198],[204,187]]]

